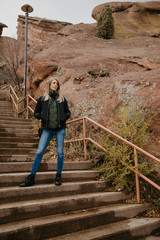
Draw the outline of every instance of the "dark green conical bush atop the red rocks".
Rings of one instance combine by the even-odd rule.
[[[110,6],[106,5],[97,21],[97,36],[110,39],[114,34],[114,20]]]

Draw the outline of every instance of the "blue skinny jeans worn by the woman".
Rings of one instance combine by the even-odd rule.
[[[33,166],[31,169],[31,174],[36,174],[39,165],[41,164],[43,154],[51,140],[51,138],[56,137],[57,144],[57,174],[61,174],[63,170],[63,162],[64,162],[64,137],[65,137],[65,129],[60,129],[58,131],[54,130],[43,130],[38,149],[36,152],[36,156],[33,162]]]

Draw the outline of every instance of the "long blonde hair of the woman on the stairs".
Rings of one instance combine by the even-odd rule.
[[[51,86],[51,83],[53,80],[56,80],[57,81],[57,85],[58,85],[58,89],[57,89],[57,92],[58,92],[58,102],[63,102],[64,101],[64,97],[61,95],[60,93],[60,83],[59,83],[59,80],[57,77],[51,77],[49,78],[48,82],[47,82],[47,87],[46,87],[46,90],[45,90],[45,93],[44,93],[44,100],[47,101],[48,99],[50,99],[51,97],[49,96],[49,91],[51,90],[50,89],[50,86]]]

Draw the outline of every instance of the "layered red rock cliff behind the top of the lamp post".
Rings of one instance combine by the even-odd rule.
[[[18,40],[25,39],[25,16],[18,16],[17,36]],[[51,41],[52,36],[65,26],[68,22],[53,21],[45,18],[28,17],[28,45]]]

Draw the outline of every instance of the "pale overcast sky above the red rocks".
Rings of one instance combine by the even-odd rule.
[[[125,0],[121,2],[147,2],[150,0]],[[160,1],[160,0],[158,0]],[[41,17],[51,20],[76,23],[94,23],[91,17],[95,6],[114,2],[113,0],[0,0],[0,22],[8,26],[3,29],[2,36],[16,38],[16,26],[18,15],[25,15],[21,6],[29,4],[34,11],[29,14],[32,17]]]

